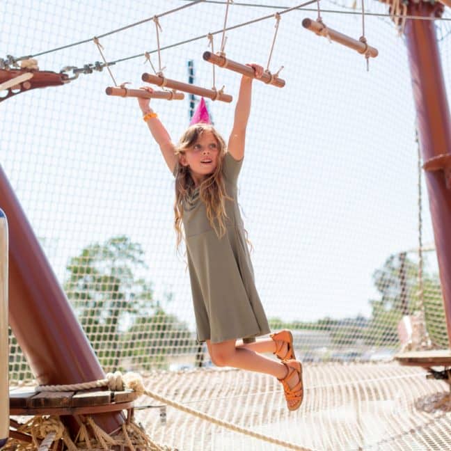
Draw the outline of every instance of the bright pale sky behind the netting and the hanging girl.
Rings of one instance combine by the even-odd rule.
[[[93,38],[186,3],[3,1],[0,57]],[[324,10],[349,12],[340,5],[322,2]],[[375,1],[365,10],[386,12]],[[235,1],[228,24],[276,11]],[[161,17],[161,46],[220,30],[224,13],[224,4],[203,3]],[[377,296],[374,270],[389,255],[418,245],[418,161],[406,49],[389,19],[367,17],[365,34],[379,56],[366,72],[363,56],[303,29],[304,17],[315,19],[316,13],[293,11],[280,22],[271,70],[285,66],[285,88],[260,82],[253,88],[239,203],[255,248],[256,284],[269,317],[369,315],[368,300]],[[333,29],[361,36],[360,16],[324,11],[322,17]],[[271,18],[229,31],[228,57],[265,66],[274,23]],[[215,51],[220,41],[218,34]],[[448,41],[441,42],[445,74]],[[133,88],[143,84],[143,72],[151,72],[142,55],[157,49],[156,42],[153,22],[100,39],[107,61],[141,54],[111,67],[118,83],[129,81]],[[202,60],[207,45],[202,38],[161,52],[166,77],[187,81],[192,59],[196,84],[211,88],[212,66]],[[93,42],[38,56],[41,70],[56,72],[95,61],[102,60]],[[158,65],[157,54],[152,62]],[[207,101],[226,138],[239,77],[216,69],[216,86],[225,85],[234,102]],[[104,70],[2,102],[0,163],[60,280],[69,258],[84,246],[128,235],[143,245],[149,266],[144,275],[156,296],[173,292],[168,310],[192,325],[189,277],[175,255],[173,177],[136,100],[106,96],[107,86],[113,81]],[[188,100],[152,106],[177,141],[189,122]],[[426,200],[423,211],[423,242],[432,242]]]

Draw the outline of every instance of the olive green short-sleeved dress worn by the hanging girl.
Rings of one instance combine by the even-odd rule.
[[[243,160],[230,153],[223,159],[227,232],[219,239],[207,219],[205,204],[196,188],[184,203],[183,225],[197,340],[219,343],[270,332],[267,317],[255,288],[251,256],[244,235],[244,224],[237,203],[237,179]],[[179,171],[175,166],[174,176]],[[216,222],[217,224],[217,222]]]

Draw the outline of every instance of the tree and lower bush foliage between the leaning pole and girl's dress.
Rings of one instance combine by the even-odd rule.
[[[147,269],[143,254],[141,244],[122,235],[86,246],[67,267],[65,292],[106,370],[136,361],[149,368],[171,352],[161,340],[178,342],[190,335],[155,299],[152,283],[137,276]]]

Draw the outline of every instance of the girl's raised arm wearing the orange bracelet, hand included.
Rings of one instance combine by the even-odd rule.
[[[149,86],[144,86],[141,89],[152,93],[152,88]],[[178,158],[177,155],[175,155],[175,145],[171,141],[171,136],[169,136],[167,130],[164,128],[164,125],[159,120],[157,113],[150,108],[150,99],[138,98],[138,102],[141,111],[143,111],[143,118],[149,127],[150,133],[152,133],[155,141],[157,141],[164,160],[166,161],[171,173],[173,173]]]

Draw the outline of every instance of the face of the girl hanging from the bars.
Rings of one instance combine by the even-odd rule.
[[[196,186],[218,166],[219,145],[212,132],[203,132],[191,148],[180,155],[180,164],[189,166]]]

